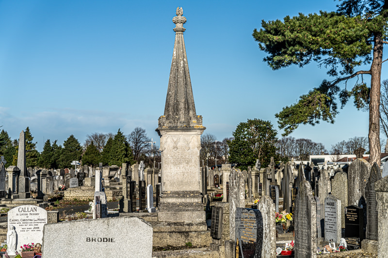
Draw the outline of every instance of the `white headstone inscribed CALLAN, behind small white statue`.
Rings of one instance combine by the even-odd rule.
[[[8,212],[8,227],[15,227],[16,251],[28,243],[42,243],[43,227],[47,224],[47,211],[34,205],[22,205]]]

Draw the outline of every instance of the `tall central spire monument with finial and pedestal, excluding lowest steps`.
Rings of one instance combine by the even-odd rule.
[[[183,40],[186,17],[177,8],[175,44],[164,115],[156,129],[161,137],[161,201],[158,220],[205,222],[202,206],[199,150],[202,116],[195,113],[193,90]]]

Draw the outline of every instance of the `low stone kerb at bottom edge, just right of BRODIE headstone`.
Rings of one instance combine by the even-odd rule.
[[[210,251],[209,248],[195,248],[186,250],[160,251],[152,252],[152,258],[219,258],[216,251]]]

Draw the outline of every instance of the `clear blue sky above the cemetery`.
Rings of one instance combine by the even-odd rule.
[[[316,63],[273,71],[252,31],[261,20],[334,11],[333,0],[102,1],[0,0],[0,125],[11,138],[30,127],[47,139],[93,132],[155,132],[163,115],[178,6],[196,113],[205,133],[231,137],[238,123],[272,121],[326,76]],[[387,57],[385,57],[387,58]],[[387,69],[383,66],[382,79]],[[364,78],[370,81],[369,76]],[[368,136],[368,112],[350,101],[334,124],[301,125],[295,138],[322,142]]]

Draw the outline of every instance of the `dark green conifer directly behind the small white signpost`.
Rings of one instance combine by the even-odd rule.
[[[69,136],[64,142],[64,149],[59,158],[59,167],[65,168],[71,166],[73,160],[81,160],[82,148],[80,142],[73,135]]]

